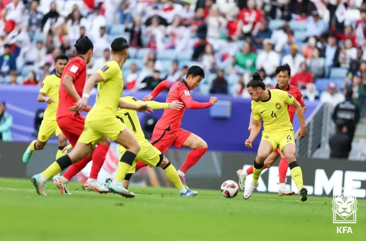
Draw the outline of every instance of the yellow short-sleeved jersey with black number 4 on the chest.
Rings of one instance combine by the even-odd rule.
[[[263,131],[290,131],[293,129],[287,104],[291,105],[295,98],[283,90],[268,90],[269,99],[252,101],[253,119],[263,120]]]

